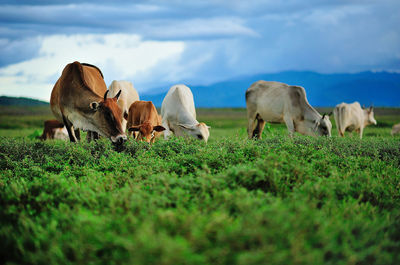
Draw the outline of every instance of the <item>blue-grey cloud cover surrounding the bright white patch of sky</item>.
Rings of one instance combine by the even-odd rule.
[[[0,66],[34,57],[37,36],[126,33],[185,41],[176,75],[188,81],[400,70],[398,0],[14,2],[0,1]]]

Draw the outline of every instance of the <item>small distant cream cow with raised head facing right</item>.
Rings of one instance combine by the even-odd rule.
[[[373,107],[363,109],[357,101],[351,104],[340,103],[336,105],[333,115],[339,136],[342,137],[345,131],[356,131],[359,133],[360,139],[362,139],[364,128],[370,124],[376,125]]]

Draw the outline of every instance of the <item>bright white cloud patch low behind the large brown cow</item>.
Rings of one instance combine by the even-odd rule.
[[[184,48],[182,42],[143,41],[126,34],[43,37],[38,57],[0,68],[0,94],[48,100],[65,65],[76,60],[97,65],[107,84],[128,79],[140,86],[146,80],[139,73],[179,57]]]

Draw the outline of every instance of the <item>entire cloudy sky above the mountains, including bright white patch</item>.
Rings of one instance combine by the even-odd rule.
[[[49,101],[73,61],[139,94],[287,70],[400,72],[400,1],[0,0],[0,95]]]

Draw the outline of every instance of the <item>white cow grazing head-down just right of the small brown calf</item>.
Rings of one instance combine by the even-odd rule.
[[[169,89],[161,105],[161,117],[165,139],[173,133],[176,136],[191,135],[207,142],[210,136],[210,127],[196,120],[193,94],[185,85]]]

